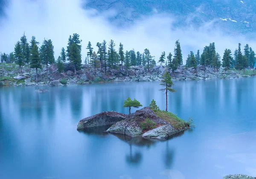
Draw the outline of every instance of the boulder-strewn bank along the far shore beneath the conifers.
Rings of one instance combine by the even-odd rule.
[[[146,81],[160,81],[164,72],[169,71],[173,80],[211,80],[211,79],[230,79],[250,77],[256,75],[256,71],[246,70],[243,74],[239,74],[235,69],[230,69],[225,72],[220,69],[214,72],[213,68],[207,70],[204,66],[185,69],[183,65],[172,73],[172,69],[166,67],[155,66],[150,69],[149,73],[143,66],[132,66],[127,72],[119,69],[110,69],[107,74],[103,68],[96,69],[96,76],[94,70],[89,65],[82,65],[81,70],[74,74],[74,65],[65,63],[64,72],[58,72],[55,64],[52,64],[49,69],[46,67],[39,70],[38,82],[35,82],[35,69],[23,66],[21,71],[18,65],[15,64],[0,64],[0,85],[11,86],[63,86],[63,85],[81,85],[99,82],[146,82]],[[113,72],[113,75],[112,75]]]

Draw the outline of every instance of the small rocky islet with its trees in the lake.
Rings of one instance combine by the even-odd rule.
[[[168,72],[163,75],[160,85],[164,87],[160,90],[165,91],[166,95],[165,111],[160,110],[155,100],[152,99],[149,107],[144,107],[135,113],[131,113],[132,107],[139,108],[142,105],[136,99],[131,100],[128,97],[124,101],[123,107],[129,108],[129,114],[122,114],[116,111],[102,112],[80,120],[77,130],[111,125],[106,132],[131,137],[168,139],[170,136],[192,127],[193,121],[191,118],[185,121],[167,111],[168,91],[175,92],[172,89],[174,84]]]

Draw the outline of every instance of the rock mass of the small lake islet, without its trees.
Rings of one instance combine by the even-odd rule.
[[[80,120],[77,130],[112,125],[106,132],[123,134],[131,137],[167,139],[170,136],[189,128],[189,123],[179,119],[177,116],[174,118],[170,117],[169,119],[162,119],[157,116],[156,113],[167,112],[155,112],[149,107],[137,110],[135,113],[130,115],[115,111],[102,112]],[[142,123],[145,123],[146,120],[150,120],[154,123],[154,127],[143,128]],[[179,126],[174,127],[172,123],[176,124],[177,122],[179,122]]]

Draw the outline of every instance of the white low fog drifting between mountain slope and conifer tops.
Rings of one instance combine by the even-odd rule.
[[[162,51],[173,54],[175,41],[180,40],[183,62],[189,51],[196,53],[199,49],[202,52],[204,46],[212,42],[215,42],[216,51],[221,57],[225,48],[234,51],[238,43],[242,43],[242,46],[249,43],[253,49],[256,46],[255,41],[248,41],[242,35],[223,34],[210,21],[197,29],[190,25],[177,29],[172,26],[173,22],[178,21],[175,15],[155,12],[151,17],[136,21],[133,26],[120,29],[107,20],[114,14],[111,11],[99,15],[95,9],[84,10],[80,0],[10,0],[6,17],[0,20],[0,51],[14,51],[15,43],[24,32],[28,41],[35,36],[40,45],[44,38],[51,39],[55,59],[62,47],[67,48],[69,35],[78,33],[82,40],[82,62],[86,57],[88,41],[93,44],[95,51],[97,42],[109,42],[111,39],[116,43],[116,50],[120,42],[124,50],[134,48],[135,51],[143,52],[148,48],[158,61]]]

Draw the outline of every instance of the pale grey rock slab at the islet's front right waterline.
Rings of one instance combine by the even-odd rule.
[[[155,139],[167,139],[172,134],[177,133],[177,130],[170,125],[162,125],[158,128],[151,129],[150,131],[145,132],[142,136],[145,138],[155,138]]]

